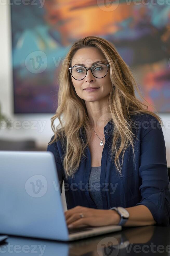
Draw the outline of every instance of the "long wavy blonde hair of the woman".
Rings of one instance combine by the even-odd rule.
[[[117,174],[122,176],[121,168],[124,153],[130,145],[134,155],[134,139],[137,139],[137,137],[130,125],[130,122],[132,122],[130,115],[152,114],[162,125],[161,118],[154,112],[147,110],[148,106],[135,96],[136,89],[138,95],[145,101],[138,89],[130,67],[123,61],[112,43],[96,36],[87,36],[76,40],[67,53],[65,64],[62,65],[58,76],[58,107],[51,118],[54,138],[48,143],[50,145],[61,139],[64,150],[64,155],[62,156],[63,168],[66,178],[73,177],[79,168],[82,155],[86,156],[86,147],[89,146],[91,137],[91,126],[86,105],[84,100],[76,94],[68,68],[71,66],[71,60],[76,51],[90,46],[98,48],[110,65],[110,80],[113,87],[109,94],[107,109],[111,115],[110,122],[114,124],[111,156],[115,163]],[[153,107],[149,103],[148,105]],[[58,118],[60,123],[55,129],[54,120],[56,118]],[[85,141],[80,136],[81,129],[83,129]],[[121,165],[120,154],[122,154]]]

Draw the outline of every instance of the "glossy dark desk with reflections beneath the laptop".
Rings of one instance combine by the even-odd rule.
[[[161,226],[123,227],[108,233],[72,242],[58,242],[9,236],[0,245],[1,255],[35,256],[106,256],[106,255],[169,255],[170,228]]]

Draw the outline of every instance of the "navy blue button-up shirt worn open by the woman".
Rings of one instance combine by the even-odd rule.
[[[151,211],[156,225],[170,225],[170,191],[167,171],[164,135],[158,120],[150,114],[133,116],[135,139],[135,162],[132,147],[124,154],[122,175],[116,174],[116,166],[110,158],[113,124],[104,127],[105,143],[101,159],[100,189],[103,209],[122,206],[124,208],[145,205]],[[134,128],[135,127],[135,128]],[[82,135],[82,132],[80,132]],[[51,140],[54,136],[51,138]],[[55,156],[58,179],[64,180],[68,210],[77,205],[97,208],[91,199],[88,183],[91,170],[91,154],[82,156],[74,178],[66,179],[63,169],[63,148],[58,140],[47,147]],[[120,158],[121,163],[121,158]],[[61,191],[60,191],[61,192]]]

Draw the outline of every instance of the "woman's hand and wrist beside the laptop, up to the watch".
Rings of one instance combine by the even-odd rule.
[[[83,213],[84,217],[80,217]],[[119,214],[114,210],[100,210],[84,206],[76,206],[64,212],[68,228],[83,226],[117,225]]]

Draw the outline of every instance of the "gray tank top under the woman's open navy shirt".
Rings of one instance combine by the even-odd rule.
[[[95,202],[97,209],[103,209],[103,201],[102,201],[100,185],[99,185],[100,172],[101,172],[101,166],[91,167],[90,176],[89,176],[89,183],[90,183],[89,194],[91,199]]]

